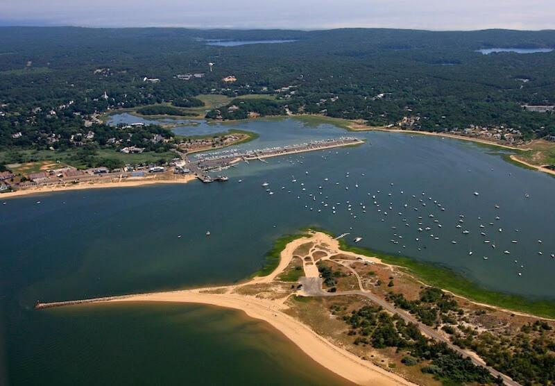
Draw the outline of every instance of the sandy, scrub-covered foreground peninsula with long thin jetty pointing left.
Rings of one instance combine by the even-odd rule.
[[[316,362],[359,385],[434,385],[459,371],[466,382],[519,385],[511,376],[522,375],[496,362],[499,353],[488,344],[492,339],[514,339],[515,344],[523,331],[532,338],[555,326],[551,320],[422,287],[406,270],[345,251],[339,237],[322,232],[291,237],[274,266],[268,275],[237,285],[37,303],[35,308],[142,301],[234,308],[268,322]],[[549,339],[539,341],[548,344]],[[524,353],[512,355],[518,360]]]

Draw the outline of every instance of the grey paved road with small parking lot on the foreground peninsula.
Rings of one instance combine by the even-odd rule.
[[[338,262],[338,261],[334,260],[334,262]],[[345,296],[345,295],[366,296],[366,298],[370,299],[370,301],[373,301],[373,303],[376,303],[377,305],[381,305],[382,308],[384,308],[384,310],[388,310],[393,314],[398,314],[406,322],[416,324],[416,326],[420,328],[420,331],[422,331],[422,333],[424,333],[428,337],[431,337],[432,339],[436,339],[439,342],[445,342],[445,344],[447,344],[447,346],[449,346],[452,350],[456,351],[457,353],[460,353],[464,357],[470,358],[470,360],[472,360],[472,363],[476,364],[477,366],[486,368],[490,372],[490,374],[495,378],[497,378],[498,376],[501,376],[505,385],[520,386],[519,383],[512,380],[509,376],[506,376],[505,374],[500,373],[499,371],[493,369],[492,367],[487,366],[486,362],[484,362],[484,360],[482,360],[481,358],[478,358],[477,355],[471,355],[470,353],[468,353],[468,351],[463,350],[459,346],[455,346],[454,344],[452,344],[447,337],[438,333],[436,330],[434,330],[434,328],[431,328],[429,326],[426,326],[425,324],[420,323],[420,321],[418,321],[416,317],[413,317],[413,315],[409,314],[409,312],[395,307],[395,305],[393,305],[392,303],[389,303],[388,301],[385,301],[384,299],[379,298],[378,296],[376,296],[370,291],[363,290],[361,278],[357,273],[357,271],[349,267],[348,263],[339,262],[339,264],[343,265],[343,267],[350,269],[350,271],[352,271],[352,273],[355,274],[355,276],[357,276],[361,290],[344,291],[344,292],[325,292],[322,290],[322,278],[301,278],[300,283],[302,283],[302,290],[304,294],[306,296]]]

